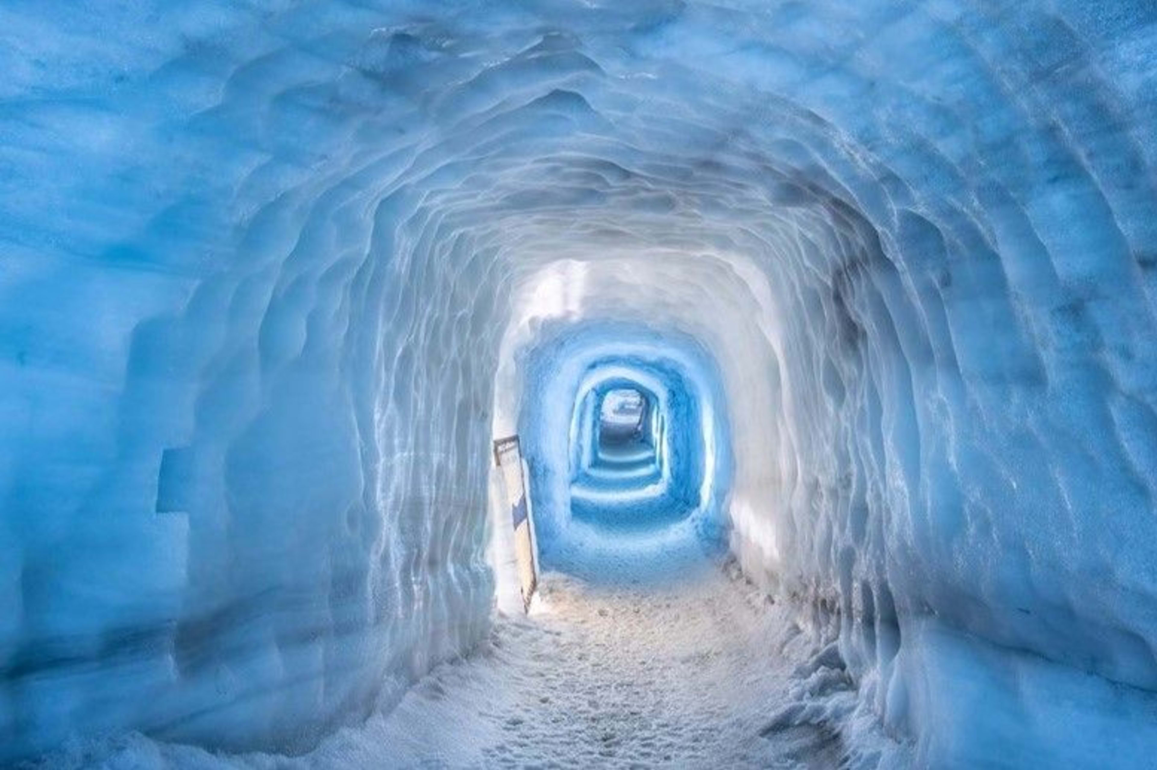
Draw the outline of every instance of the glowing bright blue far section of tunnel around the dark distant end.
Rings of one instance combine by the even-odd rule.
[[[518,435],[546,569],[598,580],[665,579],[718,550],[730,430],[714,360],[694,339],[622,323],[553,324],[519,364]],[[636,385],[657,401],[661,467],[643,477],[580,472],[583,405]]]

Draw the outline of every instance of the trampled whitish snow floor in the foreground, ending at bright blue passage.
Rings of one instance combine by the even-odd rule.
[[[659,587],[550,573],[529,617],[500,617],[470,658],[305,756],[134,735],[72,747],[52,767],[834,768],[830,733],[760,734],[790,703],[806,636],[731,567]]]

